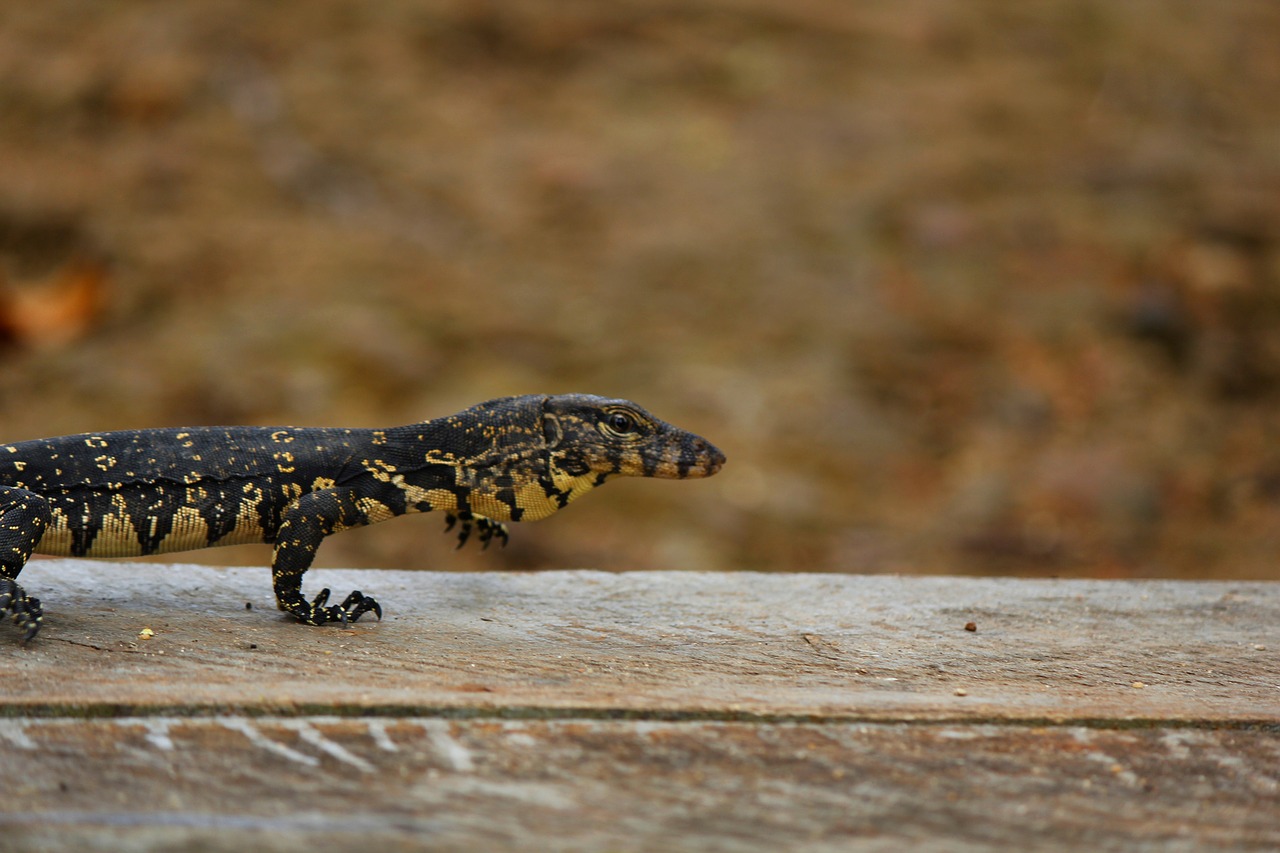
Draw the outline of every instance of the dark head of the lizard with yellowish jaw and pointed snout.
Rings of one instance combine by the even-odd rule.
[[[628,400],[559,394],[543,403],[553,482],[577,493],[608,476],[710,476],[724,453],[705,438],[654,418]]]

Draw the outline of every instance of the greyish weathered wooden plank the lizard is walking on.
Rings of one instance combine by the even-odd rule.
[[[1280,721],[1268,583],[310,573],[383,601],[343,630],[278,613],[265,569],[49,560],[22,580],[47,619],[0,643],[10,710]]]

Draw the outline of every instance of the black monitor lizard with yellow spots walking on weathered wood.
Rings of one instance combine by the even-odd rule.
[[[32,553],[133,557],[273,546],[276,606],[346,626],[381,606],[360,590],[329,605],[302,575],[334,533],[444,512],[506,544],[507,521],[544,519],[614,476],[694,479],[724,455],[627,400],[500,397],[388,429],[191,426],[0,444],[0,619],[31,640],[44,608],[18,584]]]

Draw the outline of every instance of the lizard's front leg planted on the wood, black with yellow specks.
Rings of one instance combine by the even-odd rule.
[[[276,606],[307,625],[353,622],[369,611],[383,617],[376,601],[358,589],[340,605],[326,606],[329,590],[321,589],[312,601],[302,597],[302,575],[315,560],[316,549],[330,533],[369,524],[351,492],[324,489],[300,497],[284,512],[275,534],[271,581]]]

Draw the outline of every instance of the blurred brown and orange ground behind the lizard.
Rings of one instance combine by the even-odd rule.
[[[6,3],[0,435],[584,391],[728,464],[319,565],[1274,578],[1277,45],[1266,0]]]

